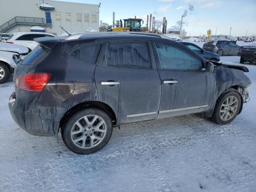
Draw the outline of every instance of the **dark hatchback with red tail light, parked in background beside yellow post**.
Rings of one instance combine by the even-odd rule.
[[[237,55],[239,48],[235,41],[230,40],[209,41],[203,45],[204,50],[217,53],[219,56]]]

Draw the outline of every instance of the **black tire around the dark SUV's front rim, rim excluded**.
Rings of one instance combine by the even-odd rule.
[[[230,120],[222,120],[222,118],[220,117],[220,109],[221,106],[223,104],[223,102],[230,96],[234,96],[237,98],[238,100],[238,107],[236,109],[236,112],[234,114],[234,116],[230,119]],[[241,107],[241,97],[240,94],[236,91],[230,91],[230,92],[225,92],[223,93],[217,100],[216,105],[214,107],[214,111],[212,116],[210,117],[210,119],[220,125],[225,125],[225,124],[229,124],[230,122],[232,122],[234,120],[234,118],[236,118],[236,116],[238,115],[239,111],[240,111],[240,107]]]

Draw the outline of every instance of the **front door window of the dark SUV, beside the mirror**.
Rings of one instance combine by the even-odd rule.
[[[164,43],[156,43],[156,48],[164,70],[202,69],[202,61],[182,48]]]

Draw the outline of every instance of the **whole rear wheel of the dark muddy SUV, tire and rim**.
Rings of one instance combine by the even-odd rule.
[[[104,111],[88,108],[76,112],[61,128],[64,144],[77,154],[90,154],[103,148],[112,135],[112,122]]]

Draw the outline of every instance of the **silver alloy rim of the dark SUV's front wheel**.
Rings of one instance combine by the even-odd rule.
[[[235,96],[230,96],[224,100],[220,107],[220,118],[224,121],[232,119],[238,109],[238,100]]]

